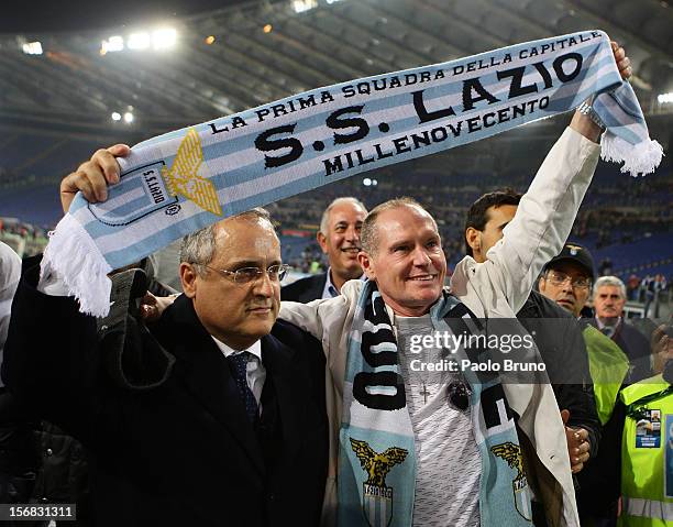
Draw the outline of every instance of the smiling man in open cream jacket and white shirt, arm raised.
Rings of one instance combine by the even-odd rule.
[[[620,58],[616,55],[617,61],[621,61],[624,51],[616,53],[620,54]],[[625,69],[624,63],[620,68]],[[559,253],[570,233],[598,161],[596,142],[600,131],[591,119],[576,112],[570,129],[549,153],[522,197],[516,217],[504,230],[503,240],[490,249],[488,260],[477,263],[467,256],[459,263],[451,278],[451,294],[476,317],[516,318],[533,279],[543,264]],[[446,261],[437,223],[418,204],[393,200],[369,212],[361,238],[360,263],[369,281],[376,282],[401,350],[399,344],[404,336],[400,337],[399,321],[428,316],[442,298]],[[336,480],[342,477],[338,474],[339,451],[347,444],[340,447],[339,438],[344,406],[353,400],[344,384],[351,331],[362,301],[362,282],[351,281],[336,298],[308,305],[284,301],[280,310],[282,319],[321,339],[328,355],[333,382],[327,387],[332,432],[324,507],[328,516],[344,505],[338,503]],[[428,320],[421,333],[431,330],[431,323]],[[407,388],[408,380],[404,381]],[[463,425],[461,440],[449,437],[454,430],[450,419],[464,418],[461,411],[465,409],[449,402],[446,389],[453,384],[450,378],[433,384],[434,393],[428,383],[416,383],[405,389],[405,406],[415,426],[416,461],[420,463],[416,466],[416,488],[420,492],[415,495],[413,523],[418,520],[420,525],[434,513],[438,525],[478,525],[483,518],[479,517],[479,495],[474,491],[479,485],[481,473],[473,431]],[[551,386],[538,385],[533,389],[505,384],[503,387],[507,403],[520,416],[517,425],[522,435],[519,436],[534,446],[529,458],[536,474],[531,480],[538,480],[534,482],[536,496],[543,502],[548,520],[551,525],[578,525],[565,431]],[[421,389],[430,393],[423,394]],[[439,406],[426,408],[435,398]],[[423,437],[431,438],[430,442]],[[432,452],[428,452],[429,446]],[[446,458],[453,461],[446,463]],[[464,477],[452,477],[457,470],[453,464],[456,460],[464,461]],[[440,462],[444,465],[438,469]],[[433,497],[426,491],[432,487],[441,487],[439,495]],[[471,496],[470,499],[463,501],[466,496]],[[454,506],[456,501],[459,506]]]

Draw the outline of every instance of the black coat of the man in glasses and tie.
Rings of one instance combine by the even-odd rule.
[[[287,322],[262,339],[267,376],[255,430],[189,299],[178,298],[153,334],[128,330],[118,360],[71,298],[34,288],[36,271],[14,299],[3,377],[92,452],[97,525],[318,524],[328,421],[317,340]],[[144,369],[166,363],[162,353],[170,370],[144,384]]]

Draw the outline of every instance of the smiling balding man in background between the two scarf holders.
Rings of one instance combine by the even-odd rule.
[[[332,298],[339,295],[341,286],[350,279],[363,276],[357,262],[360,230],[367,216],[367,209],[356,198],[334,199],[320,220],[320,231],[316,235],[320,249],[328,255],[330,263],[324,273],[300,278],[285,287],[280,294],[284,300],[311,301],[318,298]]]

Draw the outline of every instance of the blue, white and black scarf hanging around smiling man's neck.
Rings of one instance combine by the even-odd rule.
[[[478,325],[468,309],[448,294],[432,307],[430,317],[434,330],[442,332],[470,333],[465,320]],[[485,359],[473,351],[459,350],[456,359]],[[349,338],[339,433],[340,526],[412,524],[416,455],[399,363],[385,304],[376,284],[367,282]],[[464,376],[472,388],[471,416],[482,458],[481,525],[530,526],[530,493],[521,450],[499,378],[496,374],[477,377],[470,371]]]

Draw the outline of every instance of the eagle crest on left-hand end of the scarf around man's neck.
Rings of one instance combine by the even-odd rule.
[[[362,512],[369,527],[383,527],[393,519],[393,487],[386,485],[386,475],[396,464],[407,458],[405,449],[390,447],[377,453],[366,441],[350,438],[351,448],[367,473],[367,481],[362,484]]]

